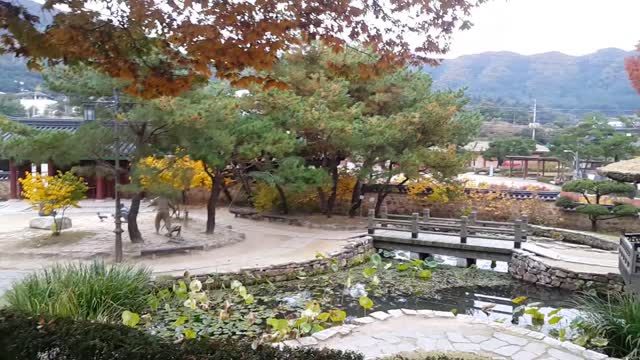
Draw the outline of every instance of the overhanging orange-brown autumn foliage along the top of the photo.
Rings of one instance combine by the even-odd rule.
[[[336,48],[366,46],[378,65],[436,62],[451,34],[471,26],[470,10],[486,0],[165,1],[48,0],[50,26],[11,1],[0,1],[0,54],[29,59],[32,68],[85,64],[131,80],[130,94],[176,95],[212,75],[234,82],[268,77],[279,54],[313,40]],[[412,41],[415,40],[415,41]],[[420,39],[420,40],[416,40]]]

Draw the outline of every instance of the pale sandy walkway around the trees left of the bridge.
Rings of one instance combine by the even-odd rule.
[[[128,201],[125,200],[125,203],[128,205]],[[0,203],[0,205],[2,205],[0,207],[0,243],[7,243],[10,236],[14,238],[13,241],[19,240],[18,243],[26,241],[27,239],[21,237],[28,226],[29,219],[36,216],[35,211],[30,208],[29,204],[22,201],[10,201]],[[82,201],[80,205],[81,208],[70,209],[67,213],[74,222],[74,229],[91,228],[104,234],[104,241],[101,244],[110,253],[113,246],[113,234],[111,233],[113,224],[111,221],[98,222],[96,212],[113,213],[113,201]],[[142,210],[139,224],[143,235],[152,234],[154,232],[153,208],[143,206]],[[203,223],[206,219],[204,209],[191,210],[189,217],[193,220],[190,225],[192,231],[204,231]],[[218,209],[216,220],[216,229],[231,228],[234,232],[245,234],[245,239],[207,251],[194,251],[191,254],[162,256],[157,259],[136,257],[125,260],[149,266],[156,274],[181,275],[185,270],[191,273],[231,272],[249,267],[312,260],[318,253],[327,254],[340,251],[348,244],[349,238],[359,236],[364,232],[363,230],[310,229],[276,222],[258,222],[236,218],[224,208]],[[202,226],[202,230],[196,229],[196,226]],[[73,229],[69,231],[73,231]],[[124,241],[125,245],[128,245],[126,238]],[[77,245],[70,244],[64,247],[64,250],[69,250],[73,246]],[[55,251],[52,249],[42,247],[40,250],[32,251],[34,254],[24,256],[8,254],[2,256],[0,254],[0,294],[3,292],[3,288],[26,272],[38,270],[56,261],[72,259],[66,255],[63,257],[50,255],[55,255]],[[41,253],[41,255],[37,253]],[[86,261],[88,257],[84,256],[82,259]]]

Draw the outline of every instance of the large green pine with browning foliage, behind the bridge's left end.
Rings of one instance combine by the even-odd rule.
[[[458,147],[480,123],[477,114],[460,112],[466,104],[463,93],[432,91],[428,75],[407,68],[367,71],[376,62],[375,56],[356,49],[335,53],[314,45],[284,56],[270,74],[289,84],[286,89],[254,92],[250,103],[264,119],[296,135],[296,155],[327,172],[329,193],[318,187],[318,197],[328,215],[336,202],[342,161],[349,159],[355,166],[357,208],[365,182],[388,185],[396,175],[425,172],[449,176],[458,161],[447,160],[458,159]],[[385,194],[380,194],[378,208]]]

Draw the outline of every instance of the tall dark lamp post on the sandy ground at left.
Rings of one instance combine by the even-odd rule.
[[[120,193],[118,189],[120,188],[120,132],[118,131],[118,111],[120,108],[120,97],[118,95],[118,91],[116,89],[113,90],[113,100],[109,101],[98,101],[94,103],[86,103],[84,104],[84,120],[85,121],[95,121],[96,119],[96,107],[95,104],[108,104],[113,105],[114,108],[114,119],[113,119],[113,133],[115,135],[115,149],[114,149],[114,159],[115,159],[115,167],[113,169],[114,179],[115,179],[115,191],[114,197],[116,200],[116,211],[115,211],[115,229],[113,232],[116,234],[116,248],[115,248],[115,260],[117,263],[122,262],[122,205],[120,203]]]

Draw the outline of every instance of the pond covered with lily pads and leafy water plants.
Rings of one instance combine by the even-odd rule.
[[[490,263],[488,270],[483,270],[445,265],[450,261],[428,261],[416,269],[409,265],[411,260],[381,259],[377,264],[368,262],[324,275],[301,273],[296,280],[242,287],[242,296],[237,289],[213,289],[207,292],[206,307],[195,307],[188,316],[181,301],[158,306],[149,314],[153,320],[146,327],[166,337],[180,337],[184,328],[191,326],[196,335],[257,338],[267,331],[268,319],[298,318],[309,303],[317,303],[323,312],[342,310],[347,322],[372,311],[406,308],[531,325],[531,316],[517,311],[519,305],[512,302],[519,297],[526,297],[528,304],[540,302],[535,306],[543,314],[563,308],[557,314],[562,320],[555,325],[544,324],[544,332],[566,327],[577,315],[570,309],[572,292],[514,280],[500,266],[491,269]],[[250,302],[243,300],[247,295]],[[365,295],[373,303],[366,311],[359,302]]]

